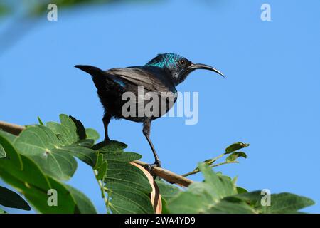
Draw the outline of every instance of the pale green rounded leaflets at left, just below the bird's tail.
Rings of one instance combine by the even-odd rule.
[[[95,166],[96,152],[90,148],[93,140],[81,139],[85,128],[73,117],[60,115],[61,124],[50,122],[47,127],[34,125],[26,128],[15,140],[23,155],[31,157],[46,174],[58,180],[73,176],[78,157],[87,165]],[[82,136],[81,136],[82,135]]]

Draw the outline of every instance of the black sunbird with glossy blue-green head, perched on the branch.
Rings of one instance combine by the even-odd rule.
[[[174,53],[159,54],[145,66],[112,68],[108,71],[102,71],[95,66],[76,65],[75,67],[90,73],[95,83],[97,94],[105,108],[102,121],[105,126],[106,142],[110,140],[108,124],[111,118],[124,118],[143,123],[142,132],[149,142],[155,158],[155,162],[149,166],[150,168],[153,166],[161,167],[159,157],[149,138],[151,121],[164,115],[174,105],[177,96],[176,86],[196,69],[214,71],[223,76],[220,71],[212,66],[192,63]],[[145,97],[142,97],[142,93],[139,93],[139,88],[140,92],[143,91]],[[146,94],[149,94],[149,96]],[[134,95],[135,99],[129,100],[128,103],[129,95]],[[147,104],[151,100],[158,100],[159,104],[150,108],[149,113],[145,112]],[[126,110],[124,106],[129,106],[129,108]]]

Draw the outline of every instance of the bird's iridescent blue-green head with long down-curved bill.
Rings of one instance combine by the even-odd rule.
[[[171,75],[176,85],[184,81],[188,74],[196,69],[214,71],[215,73],[220,74],[220,76],[223,76],[220,71],[212,66],[201,63],[192,63],[191,61],[188,61],[188,59],[175,53],[159,54],[155,58],[151,59],[151,61],[146,63],[146,66],[159,67],[164,71],[167,71]]]

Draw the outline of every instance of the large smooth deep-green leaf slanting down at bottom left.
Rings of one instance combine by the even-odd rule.
[[[19,155],[14,146],[1,137],[0,142],[12,160],[0,160],[0,177],[9,185],[23,193],[29,203],[41,213],[95,213],[95,209],[85,195],[72,190],[51,177],[46,176],[30,158]],[[21,167],[18,162],[21,162]],[[58,192],[58,205],[48,205],[48,190]]]

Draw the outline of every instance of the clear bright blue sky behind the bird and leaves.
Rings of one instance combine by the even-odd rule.
[[[272,21],[261,21],[263,3],[270,4]],[[73,66],[139,66],[157,53],[178,53],[215,66],[227,79],[196,71],[178,86],[199,93],[199,121],[152,123],[163,167],[182,174],[233,142],[247,142],[247,160],[216,170],[238,175],[247,190],[311,197],[317,204],[304,211],[318,213],[319,7],[316,0],[158,1],[61,10],[51,22],[43,16],[1,53],[0,119],[25,125],[66,113],[103,137],[95,86]],[[110,138],[153,162],[139,123],[113,120]],[[79,162],[69,183],[105,212],[90,167]]]

